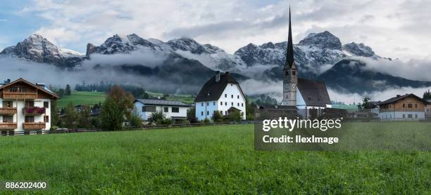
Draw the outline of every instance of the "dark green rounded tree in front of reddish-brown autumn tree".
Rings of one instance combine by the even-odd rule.
[[[106,97],[101,107],[101,128],[104,130],[121,130],[124,123],[124,112],[119,102],[113,97]]]

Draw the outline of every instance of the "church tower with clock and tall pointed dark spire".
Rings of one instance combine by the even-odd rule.
[[[286,63],[283,68],[283,100],[281,105],[296,106],[296,86],[298,86],[298,74],[294,61],[292,42],[292,25],[289,7],[289,38],[287,40]]]

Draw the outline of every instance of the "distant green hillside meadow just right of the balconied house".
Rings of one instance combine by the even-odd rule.
[[[73,91],[72,95],[65,95],[57,101],[57,107],[66,107],[70,102],[73,105],[94,105],[105,101],[106,94],[103,92]]]

